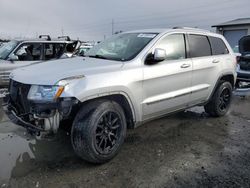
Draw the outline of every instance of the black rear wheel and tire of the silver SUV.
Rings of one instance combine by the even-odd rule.
[[[232,90],[230,82],[221,81],[210,101],[204,106],[205,112],[213,117],[224,116],[231,105]]]

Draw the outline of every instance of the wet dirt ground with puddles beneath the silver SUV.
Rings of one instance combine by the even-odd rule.
[[[36,140],[0,117],[0,188],[250,187],[250,97],[222,118],[196,107],[129,130],[103,165],[75,156],[64,131]]]

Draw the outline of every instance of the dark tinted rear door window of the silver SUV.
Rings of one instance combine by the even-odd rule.
[[[208,38],[203,35],[189,35],[189,47],[191,57],[203,57],[212,54]]]

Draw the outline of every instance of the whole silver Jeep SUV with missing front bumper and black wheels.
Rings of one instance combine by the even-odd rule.
[[[127,128],[196,105],[225,115],[235,70],[221,35],[191,28],[126,32],[85,57],[13,71],[5,109],[38,135],[66,122],[75,152],[104,163],[121,148]]]

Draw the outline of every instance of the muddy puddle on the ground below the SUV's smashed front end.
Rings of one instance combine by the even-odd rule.
[[[52,139],[37,140],[22,127],[9,122],[1,111],[0,114],[0,185],[48,163],[75,157],[66,132],[61,131]]]

